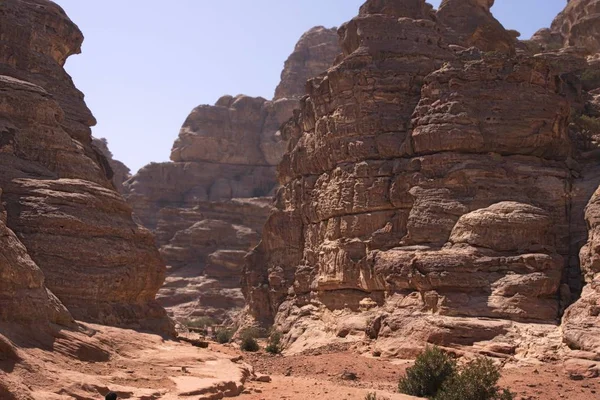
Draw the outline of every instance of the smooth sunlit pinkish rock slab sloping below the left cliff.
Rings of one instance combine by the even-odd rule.
[[[222,399],[254,377],[231,355],[132,330],[82,324],[81,332],[63,330],[52,340],[12,336],[0,335],[0,348],[19,360],[2,357],[3,400],[103,399],[109,391],[120,399]]]

